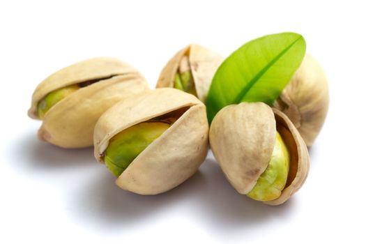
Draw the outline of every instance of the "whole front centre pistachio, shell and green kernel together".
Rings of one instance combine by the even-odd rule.
[[[116,184],[142,195],[166,192],[197,171],[208,151],[206,106],[162,88],[118,102],[96,123],[94,155]]]

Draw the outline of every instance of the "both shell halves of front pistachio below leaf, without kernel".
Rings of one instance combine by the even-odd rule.
[[[269,205],[287,201],[303,185],[309,170],[307,146],[288,117],[263,102],[242,102],[221,109],[211,123],[209,135],[224,176],[246,195],[268,167],[276,130],[289,150],[290,169],[280,197],[264,201]]]

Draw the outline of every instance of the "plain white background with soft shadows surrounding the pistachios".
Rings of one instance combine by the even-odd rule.
[[[362,1],[1,1],[0,243],[365,243],[365,23]],[[39,142],[26,116],[36,85],[82,59],[116,56],[153,87],[188,43],[227,56],[282,31],[330,85],[309,177],[282,206],[238,195],[211,154],[170,192],[124,192],[92,148]]]

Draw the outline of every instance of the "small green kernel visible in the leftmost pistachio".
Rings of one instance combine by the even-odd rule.
[[[40,102],[38,102],[37,111],[40,119],[45,118],[47,111],[54,106],[57,102],[63,100],[71,93],[77,91],[80,87],[77,84],[66,86],[55,91],[52,91],[45,96]]]

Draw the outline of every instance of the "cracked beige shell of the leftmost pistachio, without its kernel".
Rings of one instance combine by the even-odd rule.
[[[38,102],[49,92],[88,81],[98,82],[78,89],[46,112],[39,139],[63,148],[92,146],[93,129],[103,112],[128,96],[148,91],[144,77],[128,64],[112,58],[88,59],[41,82],[33,93],[29,116],[39,119]]]

